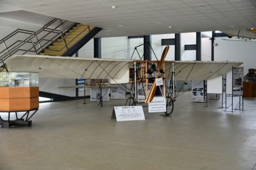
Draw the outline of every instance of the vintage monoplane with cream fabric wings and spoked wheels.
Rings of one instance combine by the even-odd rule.
[[[136,105],[140,101],[138,92],[141,89],[145,103],[150,103],[158,91],[158,95],[166,97],[166,106],[171,107],[166,115],[171,114],[177,97],[174,80],[209,80],[243,64],[230,61],[165,61],[168,50],[169,46],[166,46],[160,61],[15,55],[5,63],[10,72],[39,72],[40,78],[107,79],[109,84],[100,85],[111,87],[115,84],[122,89],[126,88],[124,83],[130,83],[131,94],[126,105]],[[156,80],[161,79],[162,85],[157,85]],[[146,85],[140,89],[143,83]]]

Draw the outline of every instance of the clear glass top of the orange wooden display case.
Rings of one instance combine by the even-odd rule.
[[[0,87],[38,87],[38,73],[0,72]]]

